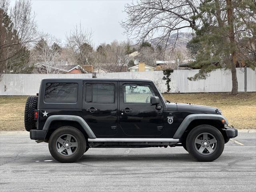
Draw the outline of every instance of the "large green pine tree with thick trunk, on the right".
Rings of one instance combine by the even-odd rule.
[[[248,6],[248,2],[209,0],[200,4],[197,19],[202,21],[202,26],[196,29],[196,36],[188,43],[187,48],[196,57],[196,62],[192,65],[201,69],[190,80],[205,79],[216,68],[231,69],[232,94],[238,94],[236,65],[245,53],[241,50],[239,41],[241,38],[248,38],[250,30],[243,18],[255,12],[254,5],[250,11],[247,9],[240,14],[241,6]],[[252,26],[255,26],[256,20],[253,22]]]

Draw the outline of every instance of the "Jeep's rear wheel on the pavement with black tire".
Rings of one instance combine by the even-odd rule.
[[[63,148],[66,147],[67,148],[70,147],[70,150],[72,150],[72,154],[68,154],[68,151],[66,149],[66,151],[64,150],[63,152],[59,152],[58,150],[62,149],[62,146],[60,146],[60,142],[58,142],[58,140],[65,134],[67,135],[71,135],[73,142],[74,140],[76,141],[76,147],[70,147],[68,146],[68,142],[72,143],[72,140],[70,139],[70,141],[67,141],[63,139],[64,141],[66,141],[67,143],[63,144]],[[74,142],[75,143],[75,142]],[[57,147],[60,146],[58,149]],[[86,149],[86,140],[84,138],[84,135],[82,134],[82,132],[80,130],[78,130],[77,128],[74,128],[72,126],[63,126],[58,128],[57,130],[55,130],[52,135],[50,136],[49,139],[49,143],[48,143],[48,147],[49,147],[49,151],[50,154],[52,155],[52,157],[54,159],[56,159],[59,162],[62,163],[73,163],[76,162],[77,160],[79,160],[83,154],[84,151]],[[66,153],[66,154],[64,154]]]

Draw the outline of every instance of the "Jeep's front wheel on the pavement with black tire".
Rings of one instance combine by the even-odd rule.
[[[215,141],[212,146],[210,146],[210,144],[206,145],[204,139],[202,139],[202,142],[200,142],[202,143],[201,145],[197,144],[199,143],[198,141],[200,141],[197,137],[200,135],[204,136],[205,134],[207,135],[207,143],[210,140]],[[210,138],[211,136],[212,139]],[[186,139],[186,147],[188,149],[188,152],[194,159],[198,161],[210,162],[216,160],[222,154],[224,150],[224,138],[221,132],[214,126],[199,125],[189,132]],[[206,147],[211,147],[212,149],[208,148],[208,150]],[[201,152],[200,149],[202,149],[203,151]],[[210,150],[212,152],[210,152]]]

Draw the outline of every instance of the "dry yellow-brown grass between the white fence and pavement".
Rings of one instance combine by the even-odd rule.
[[[193,103],[220,108],[230,125],[256,128],[256,93],[164,94],[170,102]],[[24,107],[27,97],[0,97],[0,131],[25,130]]]

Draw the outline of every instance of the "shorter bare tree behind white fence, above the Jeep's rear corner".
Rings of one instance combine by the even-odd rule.
[[[42,35],[43,38],[37,42],[33,48],[33,58],[38,64],[35,66],[34,72],[37,73],[59,73],[60,49],[54,48],[54,43],[58,42],[54,36],[50,34]]]

